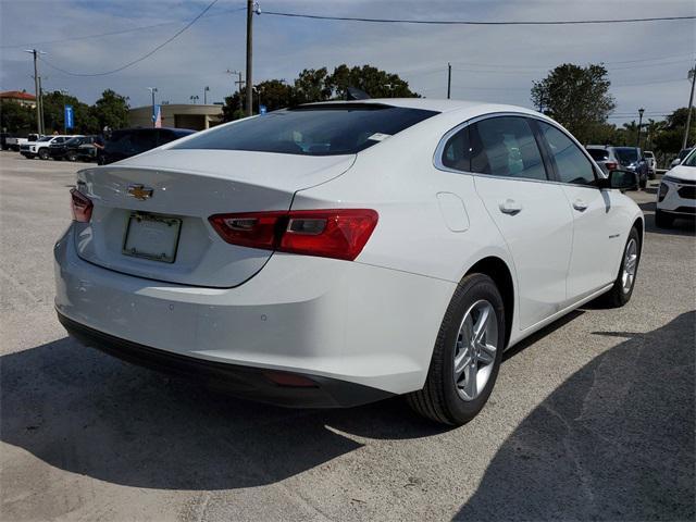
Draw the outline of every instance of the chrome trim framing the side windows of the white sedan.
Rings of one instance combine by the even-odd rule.
[[[567,136],[573,144],[575,144],[580,150],[582,150],[583,154],[585,154],[585,158],[587,158],[587,160],[589,161],[589,164],[592,165],[594,172],[595,172],[595,181],[597,181],[598,178],[604,178],[605,176],[602,174],[600,174],[601,169],[599,169],[595,162],[595,160],[592,159],[592,157],[589,156],[589,152],[587,152],[585,150],[585,148],[580,144],[580,141],[577,141],[572,135],[570,135],[568,132],[566,132],[563,128],[561,128],[555,121],[552,120],[547,120],[544,117],[539,117],[536,114],[527,114],[525,112],[512,112],[512,111],[504,111],[504,112],[488,112],[486,114],[478,114],[477,116],[474,116],[470,120],[467,120],[458,125],[456,125],[455,127],[450,128],[449,130],[447,130],[447,133],[445,133],[445,135],[440,138],[439,142],[437,144],[437,147],[435,148],[435,153],[433,154],[433,165],[435,166],[435,169],[437,169],[438,171],[443,171],[443,172],[449,172],[452,174],[464,174],[468,176],[476,176],[476,177],[486,177],[486,178],[493,178],[493,179],[508,179],[508,181],[515,181],[515,182],[532,182],[532,183],[549,183],[552,185],[563,185],[563,186],[573,186],[573,187],[586,187],[586,188],[593,188],[595,190],[597,190],[599,187],[593,186],[593,185],[582,185],[582,184],[574,184],[574,183],[566,183],[566,182],[557,182],[556,179],[534,179],[531,177],[515,177],[515,176],[496,176],[494,174],[481,174],[477,172],[470,172],[470,171],[458,171],[457,169],[452,169],[450,166],[447,166],[443,163],[443,154],[445,153],[445,146],[447,145],[447,141],[449,141],[449,138],[451,138],[455,134],[457,134],[459,130],[461,130],[462,128],[472,125],[474,123],[481,122],[483,120],[489,120],[493,117],[502,117],[502,116],[518,116],[518,117],[529,117],[530,120],[536,120],[537,122],[542,122],[542,123],[546,123],[547,125],[550,125],[552,127],[555,127],[557,130],[559,130],[560,133],[562,133],[564,136]],[[539,153],[542,153],[542,151],[539,150]]]

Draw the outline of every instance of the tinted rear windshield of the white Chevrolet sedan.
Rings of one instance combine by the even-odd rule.
[[[355,154],[435,114],[376,103],[299,107],[225,125],[173,148]]]

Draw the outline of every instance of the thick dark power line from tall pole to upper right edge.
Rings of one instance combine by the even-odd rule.
[[[652,16],[647,18],[618,20],[554,20],[554,21],[505,21],[482,22],[470,20],[403,20],[403,18],[366,18],[358,16],[326,16],[320,14],[283,13],[264,11],[271,16],[286,16],[291,18],[334,20],[341,22],[366,22],[371,24],[422,24],[422,25],[579,25],[579,24],[631,24],[636,22],[666,22],[679,20],[694,20],[696,16]]]

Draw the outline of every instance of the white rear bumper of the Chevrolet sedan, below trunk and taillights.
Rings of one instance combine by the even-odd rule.
[[[257,370],[420,389],[456,283],[359,262],[273,254],[235,288],[125,275],[54,248],[58,312],[135,345]]]

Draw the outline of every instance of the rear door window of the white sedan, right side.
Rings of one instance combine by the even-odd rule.
[[[471,171],[504,177],[547,179],[546,167],[524,117],[500,116],[470,126]]]

